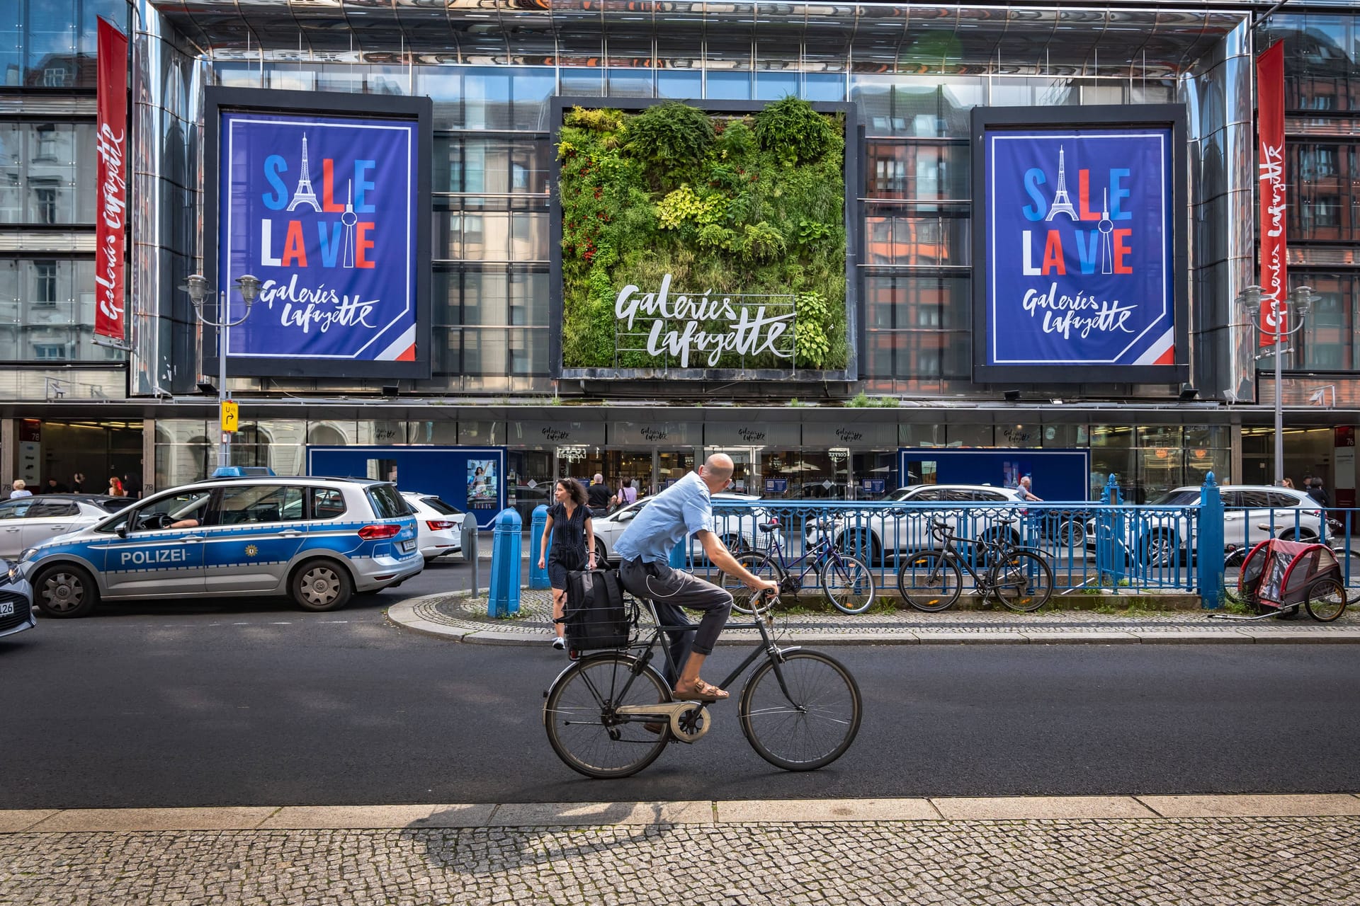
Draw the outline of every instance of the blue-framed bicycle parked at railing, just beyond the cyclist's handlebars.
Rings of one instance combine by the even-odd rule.
[[[772,532],[779,527],[778,519],[758,523],[762,532]],[[747,551],[737,556],[737,562],[760,579],[779,584],[781,595],[796,595],[802,591],[804,580],[811,572],[821,585],[821,594],[827,596],[831,606],[843,614],[862,614],[873,606],[877,590],[873,585],[873,573],[858,557],[842,551],[831,543],[832,522],[830,519],[816,520],[817,538],[801,557],[787,560],[783,554],[783,545],[779,537],[767,550]],[[800,566],[800,564],[802,564]],[[793,570],[798,569],[794,576]],[[743,614],[762,613],[758,607],[759,599],[753,600],[751,590],[740,579],[722,575],[722,587],[732,592],[732,606]]]

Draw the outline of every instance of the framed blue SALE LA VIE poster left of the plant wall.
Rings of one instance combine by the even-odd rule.
[[[233,374],[430,374],[428,99],[218,90],[218,280]],[[336,105],[344,109],[335,110]],[[234,289],[252,274],[246,315]]]

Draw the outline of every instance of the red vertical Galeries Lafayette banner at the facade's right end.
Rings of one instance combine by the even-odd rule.
[[[1284,41],[1257,57],[1257,178],[1261,196],[1261,344],[1289,329],[1285,300]]]

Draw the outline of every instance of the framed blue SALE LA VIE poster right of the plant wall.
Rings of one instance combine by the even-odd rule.
[[[1186,378],[1183,118],[974,111],[975,380]]]

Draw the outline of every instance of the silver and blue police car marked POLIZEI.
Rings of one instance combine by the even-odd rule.
[[[420,572],[411,508],[390,482],[246,475],[165,490],[23,551],[34,603],[288,595],[339,610]]]

